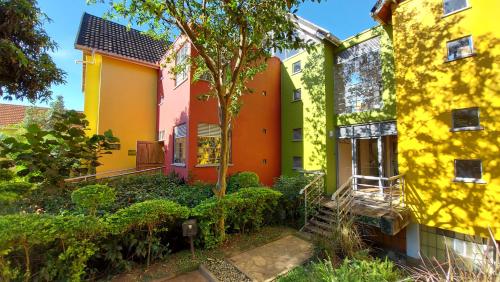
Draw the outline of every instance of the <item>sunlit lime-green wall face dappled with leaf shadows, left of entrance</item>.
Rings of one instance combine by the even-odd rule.
[[[326,171],[326,76],[325,50],[316,47],[308,54],[302,70],[302,86],[307,93],[304,106],[304,137],[309,148],[308,164]],[[333,105],[332,105],[333,106]]]

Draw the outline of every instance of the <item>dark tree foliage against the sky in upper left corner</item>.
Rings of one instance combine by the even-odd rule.
[[[0,0],[0,96],[5,99],[47,101],[53,84],[64,83],[50,51],[57,44],[43,24],[50,19],[36,0]]]

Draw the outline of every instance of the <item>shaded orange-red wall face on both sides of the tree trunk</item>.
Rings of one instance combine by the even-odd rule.
[[[232,160],[229,174],[253,171],[265,185],[272,185],[280,175],[280,62],[267,61],[267,69],[248,85],[253,93],[242,97],[240,113],[233,121],[231,136]],[[200,101],[197,97],[208,91],[205,82],[191,85],[189,108],[189,175],[207,182],[217,181],[218,166],[197,165],[197,134],[199,123],[218,124],[217,101]],[[266,95],[263,95],[265,91]]]

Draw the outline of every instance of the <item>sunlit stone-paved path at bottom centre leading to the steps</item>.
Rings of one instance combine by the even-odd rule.
[[[253,281],[265,282],[303,264],[313,252],[310,242],[288,235],[233,256],[229,261]]]

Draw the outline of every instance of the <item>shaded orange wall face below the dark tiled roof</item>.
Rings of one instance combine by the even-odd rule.
[[[97,130],[111,129],[121,148],[101,158],[97,172],[135,168],[128,151],[136,150],[137,141],[156,140],[158,70],[102,56],[101,77]]]

